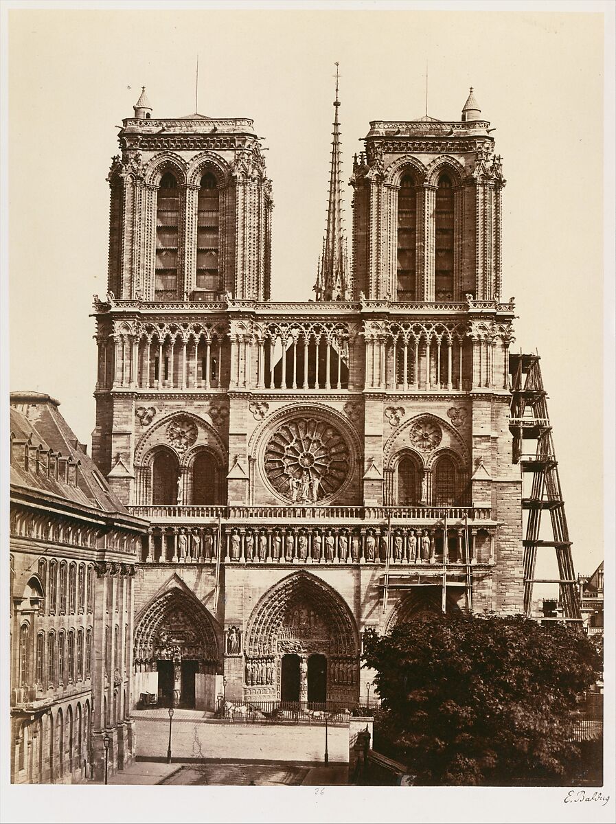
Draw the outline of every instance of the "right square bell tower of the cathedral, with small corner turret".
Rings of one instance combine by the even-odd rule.
[[[353,167],[358,297],[501,299],[501,158],[471,88],[460,121],[372,121]]]

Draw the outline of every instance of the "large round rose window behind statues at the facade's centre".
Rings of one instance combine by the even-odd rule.
[[[264,463],[279,494],[298,503],[315,502],[329,498],[347,480],[348,446],[331,424],[299,418],[272,434]]]

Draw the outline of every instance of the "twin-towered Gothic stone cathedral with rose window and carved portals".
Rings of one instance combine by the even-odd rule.
[[[135,702],[349,706],[367,628],[522,611],[492,129],[472,89],[460,119],[372,121],[348,255],[339,109],[306,302],[270,294],[252,120],[154,117],[144,90],[119,131],[93,458],[149,524]]]

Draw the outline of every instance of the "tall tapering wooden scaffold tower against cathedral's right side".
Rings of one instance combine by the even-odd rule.
[[[565,502],[558,478],[558,461],[554,452],[552,427],[548,417],[547,393],[541,377],[538,354],[510,354],[511,413],[509,428],[513,436],[513,461],[523,474],[532,477],[530,497],[522,499],[528,512],[524,546],[524,611],[531,615],[535,583],[558,583],[562,618],[581,627],[580,597],[567,531]],[[525,444],[530,443],[530,450]],[[536,447],[532,447],[536,442]],[[549,513],[551,541],[539,539],[541,517]],[[553,549],[558,564],[558,578],[534,578],[537,550]]]

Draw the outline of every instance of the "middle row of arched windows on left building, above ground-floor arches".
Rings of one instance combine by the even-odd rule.
[[[19,682],[31,686],[30,676],[30,625],[20,628]],[[64,686],[91,677],[92,628],[84,630],[42,630],[36,635],[35,684],[43,689],[48,686]]]

